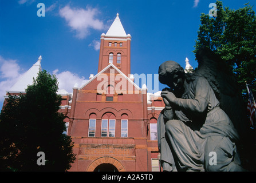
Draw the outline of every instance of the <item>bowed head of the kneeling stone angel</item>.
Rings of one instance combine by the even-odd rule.
[[[169,86],[175,92],[183,89],[185,72],[179,63],[166,61],[159,66],[159,82]]]

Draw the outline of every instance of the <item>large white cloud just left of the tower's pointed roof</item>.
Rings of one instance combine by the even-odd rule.
[[[95,18],[99,14],[99,11],[95,8],[71,8],[66,5],[60,9],[59,14],[62,18],[65,18],[71,29],[76,31],[76,37],[79,39],[84,39],[90,33],[89,29],[104,29],[104,23]]]

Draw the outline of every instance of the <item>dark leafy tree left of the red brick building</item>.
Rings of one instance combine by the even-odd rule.
[[[73,142],[59,113],[58,81],[45,70],[26,94],[10,96],[0,114],[0,170],[65,171],[75,160]],[[45,165],[37,164],[44,152]]]

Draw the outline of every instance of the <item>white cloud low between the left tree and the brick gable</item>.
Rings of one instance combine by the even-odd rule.
[[[79,77],[77,74],[71,73],[70,71],[63,71],[59,73],[59,70],[56,69],[53,71],[53,74],[56,75],[59,85],[59,90],[65,89],[69,93],[73,93],[73,87],[77,83],[79,87],[88,82],[88,79],[84,77]]]

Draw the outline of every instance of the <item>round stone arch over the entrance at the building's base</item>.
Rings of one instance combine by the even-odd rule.
[[[109,157],[109,156],[100,157],[100,158],[97,158],[96,160],[94,160],[88,166],[87,172],[93,172],[97,168],[97,166],[99,166],[101,164],[112,164],[113,166],[116,167],[116,169],[119,172],[125,172],[125,168],[124,168],[123,164],[121,164],[120,161],[116,160],[116,158]]]

